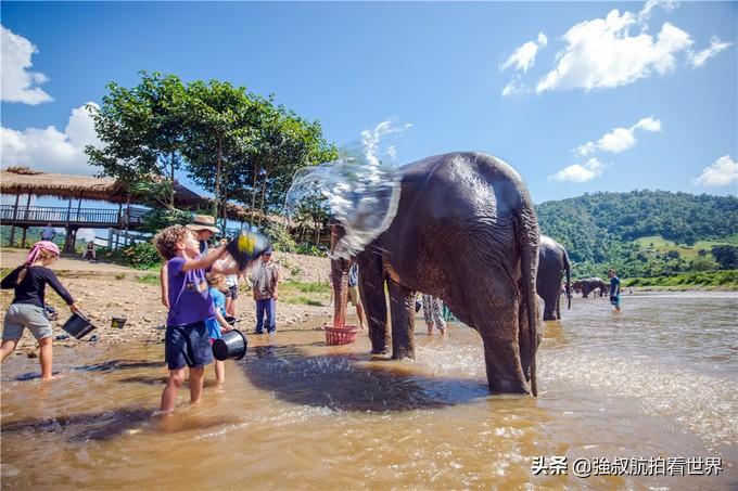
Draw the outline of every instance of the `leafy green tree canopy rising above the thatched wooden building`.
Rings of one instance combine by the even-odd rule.
[[[226,203],[234,201],[260,220],[281,210],[297,169],[336,157],[318,121],[245,87],[141,72],[138,86],[107,89],[100,108],[89,107],[103,143],[86,147],[90,164],[133,192],[156,189],[167,207],[175,172],[184,170],[213,192],[215,216],[225,220]]]

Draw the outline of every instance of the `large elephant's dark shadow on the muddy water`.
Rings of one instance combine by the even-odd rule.
[[[435,378],[355,353],[311,357],[295,346],[257,346],[238,363],[254,386],[279,399],[335,411],[433,409],[489,396],[482,382]]]

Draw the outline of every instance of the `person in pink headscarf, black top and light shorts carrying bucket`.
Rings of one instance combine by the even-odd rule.
[[[72,312],[79,308],[72,295],[62,286],[53,271],[49,269],[59,259],[59,247],[50,241],[34,244],[23,264],[15,268],[2,279],[2,289],[15,289],[13,302],[5,312],[2,327],[2,347],[0,347],[0,362],[4,361],[23,336],[26,327],[34,335],[41,348],[41,379],[52,378],[53,338],[51,323],[46,314],[44,292],[50,285],[54,292],[69,306]]]

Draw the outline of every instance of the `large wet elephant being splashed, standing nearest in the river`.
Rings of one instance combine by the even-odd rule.
[[[347,274],[359,293],[372,354],[415,358],[415,294],[441,298],[484,344],[492,392],[537,395],[538,224],[520,175],[491,155],[449,153],[407,164],[389,228],[351,258],[331,255],[334,326],[346,315]],[[331,251],[346,235],[330,221]]]

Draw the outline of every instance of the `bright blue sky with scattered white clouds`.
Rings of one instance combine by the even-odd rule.
[[[738,2],[0,10],[3,168],[96,172],[81,152],[99,143],[85,105],[149,70],[272,93],[329,141],[383,161],[495,155],[535,203],[636,189],[738,194]]]

